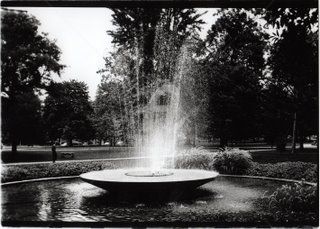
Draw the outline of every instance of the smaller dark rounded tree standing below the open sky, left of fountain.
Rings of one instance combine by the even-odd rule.
[[[52,83],[48,92],[43,119],[50,139],[64,138],[68,145],[72,145],[73,139],[92,139],[94,130],[90,115],[93,110],[86,84],[76,80]]]

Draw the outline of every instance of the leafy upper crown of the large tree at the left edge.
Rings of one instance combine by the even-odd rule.
[[[1,14],[1,90],[10,96],[17,91],[41,88],[60,73],[60,50],[38,31],[40,22],[22,11]]]

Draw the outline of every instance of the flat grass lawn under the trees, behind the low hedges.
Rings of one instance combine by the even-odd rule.
[[[216,151],[216,148],[205,147],[209,151]],[[285,152],[279,152],[268,147],[256,148],[246,147],[253,158],[253,161],[259,163],[277,163],[285,161],[302,161],[318,164],[319,152],[317,148],[305,148],[304,150],[296,150],[296,153],[291,154],[287,149]],[[62,158],[63,152],[73,152],[74,158]],[[58,160],[88,160],[88,159],[109,159],[109,158],[128,158],[138,156],[134,152],[133,147],[58,147]],[[14,162],[40,162],[51,161],[51,147],[21,147],[18,148],[16,155],[13,155],[10,150],[5,149],[1,152],[1,160],[3,163]]]

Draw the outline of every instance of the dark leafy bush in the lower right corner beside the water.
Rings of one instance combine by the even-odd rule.
[[[303,183],[283,185],[263,202],[275,222],[316,222],[318,219],[317,187]]]

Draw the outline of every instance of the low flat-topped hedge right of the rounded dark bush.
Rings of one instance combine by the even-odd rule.
[[[254,162],[247,175],[317,182],[318,168],[317,165],[307,162],[280,162],[276,164]]]

